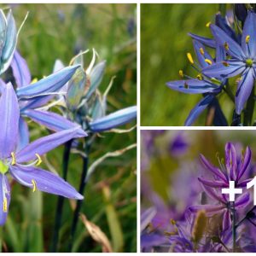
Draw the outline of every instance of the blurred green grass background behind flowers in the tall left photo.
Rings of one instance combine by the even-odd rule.
[[[26,58],[32,77],[41,79],[52,72],[56,59],[66,65],[80,49],[95,48],[107,70],[100,86],[104,91],[116,76],[108,96],[108,112],[136,105],[137,46],[136,4],[0,4],[11,7],[17,26],[29,11],[18,49]],[[84,56],[85,66],[90,54]],[[134,124],[133,124],[134,125]],[[123,128],[129,128],[126,125]],[[32,140],[47,135],[44,127],[31,123]],[[96,138],[90,164],[107,152],[136,143],[136,131],[104,133]],[[43,168],[51,167],[61,175],[63,146],[44,158]],[[82,212],[108,236],[114,251],[137,250],[137,157],[132,149],[118,158],[109,158],[96,168],[84,193]],[[79,188],[82,160],[73,154],[67,180]],[[12,200],[7,224],[3,227],[3,251],[48,252],[53,234],[57,196],[32,193],[31,189],[12,183]],[[75,201],[65,201],[59,252],[67,251]],[[79,220],[73,252],[101,252]]]

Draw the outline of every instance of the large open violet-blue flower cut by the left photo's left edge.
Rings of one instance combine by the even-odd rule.
[[[76,126],[69,130],[55,132],[46,137],[18,149],[20,106],[12,84],[6,84],[1,88],[0,97],[0,224],[4,224],[9,211],[10,188],[7,173],[24,186],[62,195],[67,198],[82,200],[80,195],[69,183],[61,177],[47,172],[38,166],[42,162],[41,155],[66,143],[79,135]]]

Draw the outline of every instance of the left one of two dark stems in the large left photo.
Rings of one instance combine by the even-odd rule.
[[[62,158],[62,163],[63,163],[63,173],[62,177],[67,180],[67,171],[68,171],[68,162],[69,162],[69,156],[70,156],[70,150],[71,146],[73,143],[73,139],[68,141],[65,144],[64,152],[63,152],[63,158]],[[57,201],[57,208],[56,208],[56,213],[55,213],[55,226],[54,226],[54,231],[53,231],[53,239],[52,239],[52,244],[51,244],[51,253],[56,253],[57,247],[58,247],[58,242],[59,242],[59,231],[61,229],[61,218],[62,218],[62,210],[63,210],[63,205],[64,205],[64,197],[59,196],[58,201]]]

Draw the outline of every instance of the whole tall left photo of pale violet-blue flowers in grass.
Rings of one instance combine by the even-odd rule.
[[[137,4],[0,4],[0,92],[0,251],[136,252]]]

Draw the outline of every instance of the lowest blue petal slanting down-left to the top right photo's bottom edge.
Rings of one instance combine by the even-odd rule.
[[[193,108],[190,113],[188,118],[185,121],[185,126],[190,126],[193,125],[195,120],[199,117],[199,115],[209,106],[209,104],[212,102],[214,98],[214,95],[209,94],[205,96],[204,98],[201,99],[200,102],[198,102],[195,105],[195,108]]]

